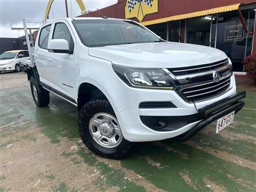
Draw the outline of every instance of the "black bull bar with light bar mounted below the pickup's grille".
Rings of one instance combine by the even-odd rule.
[[[245,96],[246,92],[241,91],[233,97],[223,99],[207,107],[200,108],[198,111],[203,120],[201,120],[201,122],[199,122],[195,127],[191,128],[191,130],[174,137],[174,139],[176,141],[187,141],[196,135],[196,133],[203,130],[204,127],[214,122],[214,120],[222,118],[233,111],[235,111],[236,114],[243,108],[243,106],[245,106],[245,102],[240,101],[241,99],[245,98]]]

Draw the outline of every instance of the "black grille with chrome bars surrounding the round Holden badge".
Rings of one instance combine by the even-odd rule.
[[[168,71],[178,85],[176,92],[189,103],[204,101],[225,93],[232,76],[232,66],[229,65],[228,59],[188,68],[172,68]],[[213,81],[214,72],[220,74],[219,82]]]

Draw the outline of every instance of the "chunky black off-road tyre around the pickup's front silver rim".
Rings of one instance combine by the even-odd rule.
[[[112,106],[105,99],[96,99],[86,103],[80,110],[78,116],[78,130],[82,141],[90,151],[104,158],[121,159],[129,155],[134,143],[122,137],[121,143],[114,148],[106,148],[94,141],[89,131],[89,122],[93,115],[105,112],[115,117]]]

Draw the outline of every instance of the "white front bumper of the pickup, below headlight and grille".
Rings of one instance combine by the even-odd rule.
[[[205,120],[205,117],[201,116],[197,109],[212,106],[214,103],[234,97],[234,95],[236,95],[236,82],[234,76],[232,76],[230,87],[226,93],[218,96],[217,98],[209,99],[208,101],[197,102],[196,107],[194,103],[187,103],[181,99],[175,91],[136,89],[129,87],[128,93],[129,95],[123,99],[129,101],[130,109],[116,113],[123,136],[129,141],[156,141],[177,137],[183,135],[183,133],[186,133],[189,130],[193,130],[197,124]],[[176,108],[139,107],[142,102],[166,101],[172,102]],[[161,116],[169,118],[169,123],[171,124],[171,128],[169,127],[170,129],[156,130],[143,122],[142,118],[159,118]],[[209,124],[210,121],[208,119],[205,122]],[[204,127],[207,126],[207,123],[204,124]]]

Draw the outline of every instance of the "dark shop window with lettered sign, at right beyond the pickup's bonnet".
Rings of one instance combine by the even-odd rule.
[[[249,31],[253,31],[255,11],[242,10]],[[253,35],[246,35],[237,11],[218,15],[216,48],[221,49],[232,60],[233,70],[242,72],[242,60],[251,54]]]

